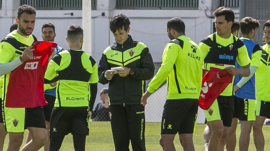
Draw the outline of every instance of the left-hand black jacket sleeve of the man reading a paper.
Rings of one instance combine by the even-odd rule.
[[[101,84],[108,84],[110,82],[104,77],[106,70],[110,70],[110,65],[107,62],[106,55],[103,53],[98,64],[98,82]]]

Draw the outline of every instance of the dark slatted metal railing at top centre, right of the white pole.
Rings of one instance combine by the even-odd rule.
[[[116,9],[198,9],[199,0],[117,0]]]

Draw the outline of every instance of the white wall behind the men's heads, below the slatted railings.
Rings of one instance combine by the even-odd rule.
[[[64,15],[65,13],[74,13]],[[105,12],[106,16],[101,16]],[[211,33],[210,19],[198,17],[198,10],[113,10],[112,14],[125,13],[131,21],[130,34],[133,39],[145,43],[155,62],[160,61],[164,46],[169,40],[166,33],[166,23],[172,17],[182,17],[186,24],[186,35],[196,43]],[[0,13],[4,13],[0,10]],[[15,13],[16,14],[16,13]],[[177,14],[177,15],[175,15]],[[108,11],[92,11],[92,53],[98,59],[103,50],[114,42],[113,34],[109,29]],[[15,22],[15,15],[0,17],[0,38],[4,38],[9,32],[10,25]],[[51,22],[56,27],[55,41],[59,46],[68,49],[65,41],[67,28],[71,24],[82,25],[81,10],[37,10],[36,25],[33,34],[41,38],[41,26],[45,22]],[[87,36],[87,35],[84,35]],[[87,51],[87,50],[86,50]]]

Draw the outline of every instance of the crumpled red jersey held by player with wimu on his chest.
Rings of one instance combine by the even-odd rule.
[[[217,73],[220,78],[217,78]],[[225,69],[211,67],[203,76],[202,89],[199,96],[199,106],[203,110],[208,110],[215,99],[232,83],[233,76]]]

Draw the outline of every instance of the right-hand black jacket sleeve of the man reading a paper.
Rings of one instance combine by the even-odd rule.
[[[141,52],[140,68],[131,68],[130,70],[134,71],[134,74],[130,76],[137,80],[149,80],[154,76],[155,66],[147,47]]]

